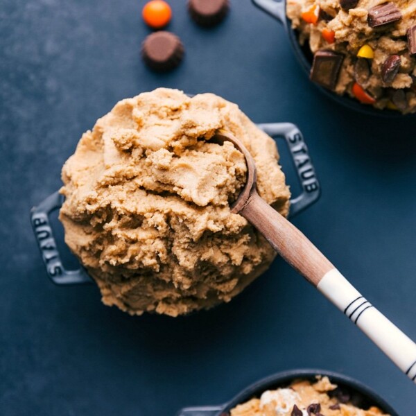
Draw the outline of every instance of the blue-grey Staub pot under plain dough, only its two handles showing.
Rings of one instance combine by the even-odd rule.
[[[292,123],[264,123],[258,124],[263,132],[270,137],[284,139],[293,160],[297,178],[302,187],[299,196],[291,200],[289,216],[293,217],[310,207],[320,197],[320,184],[315,174],[308,148],[300,130]],[[55,241],[50,216],[53,211],[60,209],[64,198],[58,191],[52,193],[37,207],[31,209],[31,223],[35,233],[37,245],[42,254],[46,272],[53,283],[58,285],[89,284],[92,278],[83,266],[76,270],[67,270],[62,263],[59,245]]]

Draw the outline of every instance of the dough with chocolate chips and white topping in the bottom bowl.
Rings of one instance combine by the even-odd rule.
[[[328,377],[315,383],[295,381],[288,388],[268,390],[231,410],[231,416],[388,416],[376,406],[363,410]]]

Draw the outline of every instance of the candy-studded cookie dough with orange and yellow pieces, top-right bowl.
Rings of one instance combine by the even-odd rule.
[[[318,54],[312,80],[379,109],[416,112],[416,1],[287,0],[286,12],[315,60],[322,51],[343,57],[328,75],[329,61]],[[322,82],[322,74],[335,85]]]

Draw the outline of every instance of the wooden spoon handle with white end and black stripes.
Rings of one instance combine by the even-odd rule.
[[[331,262],[254,190],[240,214],[297,272],[343,311],[416,383],[416,344],[359,293]]]

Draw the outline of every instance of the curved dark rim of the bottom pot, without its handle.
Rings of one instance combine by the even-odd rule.
[[[328,376],[329,380],[333,383],[344,385],[348,388],[352,388],[352,390],[356,390],[356,392],[361,393],[361,395],[363,395],[366,399],[370,399],[372,405],[378,406],[384,412],[389,413],[390,416],[399,416],[399,414],[384,399],[382,399],[372,389],[367,387],[367,385],[364,385],[360,381],[352,379],[349,376],[345,376],[344,374],[319,369],[288,370],[272,374],[271,376],[256,381],[239,392],[239,394],[236,395],[231,401],[227,402],[221,412],[227,412],[238,404],[242,404],[256,395],[261,395],[262,392],[270,388],[277,388],[279,387],[279,384],[288,383],[295,379],[314,379],[315,376],[318,375]],[[218,415],[220,415],[220,413],[218,413]]]

